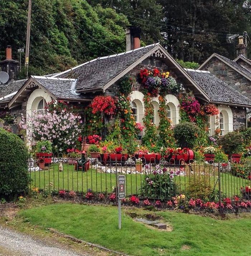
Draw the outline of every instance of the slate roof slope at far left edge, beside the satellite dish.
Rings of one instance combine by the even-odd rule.
[[[23,79],[23,80],[16,80],[16,81],[11,81],[8,84],[2,84],[0,86],[0,104],[3,102],[8,102],[10,101],[14,95],[5,97],[10,95],[11,93],[14,93],[18,91],[27,81],[28,79]],[[2,99],[4,97],[4,99]]]

